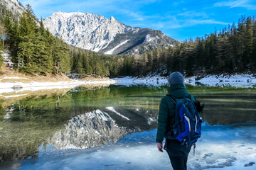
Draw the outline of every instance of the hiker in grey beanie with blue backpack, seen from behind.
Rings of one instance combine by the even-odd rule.
[[[171,73],[168,81],[168,94],[161,99],[159,106],[157,148],[163,152],[165,137],[164,149],[171,166],[174,170],[186,170],[188,153],[192,145],[196,147],[196,141],[201,136],[201,119],[197,110],[202,111],[203,107],[188,94],[180,72]]]

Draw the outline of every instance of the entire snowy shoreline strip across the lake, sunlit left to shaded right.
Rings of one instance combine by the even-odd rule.
[[[58,81],[48,79],[46,82],[35,81],[33,78],[5,76],[0,77],[0,98],[15,98],[26,96],[26,91],[67,89],[76,86],[109,86],[110,84],[121,86],[164,86],[168,85],[167,77],[150,75],[147,77],[117,77],[117,78],[88,78],[69,79],[68,77],[58,77]],[[63,78],[63,79],[62,79]],[[32,81],[32,79],[34,81]],[[42,80],[42,77],[40,77]],[[234,88],[255,88],[256,74],[229,74],[229,75],[207,75],[204,77],[185,77],[185,84],[192,86],[232,86]]]

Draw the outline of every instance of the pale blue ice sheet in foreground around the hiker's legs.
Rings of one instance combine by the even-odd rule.
[[[255,123],[203,126],[202,137],[188,156],[188,170],[255,170]],[[156,130],[133,133],[114,145],[63,154],[40,147],[39,158],[21,162],[19,169],[171,169],[166,152],[156,149]],[[56,151],[56,153],[49,153]],[[52,155],[51,157],[49,157]],[[251,166],[245,166],[251,162]]]

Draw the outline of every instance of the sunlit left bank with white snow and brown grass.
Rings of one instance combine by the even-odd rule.
[[[25,91],[38,91],[48,89],[67,89],[75,86],[108,86],[114,84],[109,78],[86,77],[85,79],[70,79],[65,74],[26,74],[13,69],[9,51],[0,51],[4,59],[0,68],[0,98],[11,96],[25,96]],[[23,93],[22,93],[23,92]]]

